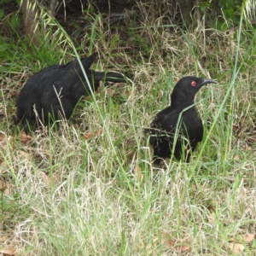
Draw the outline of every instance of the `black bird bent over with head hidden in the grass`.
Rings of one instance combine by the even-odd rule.
[[[90,82],[91,90],[98,89],[99,81],[125,83],[120,73],[96,72],[90,69],[97,54],[81,59],[84,71]],[[91,94],[90,87],[84,79],[84,73],[78,60],[66,65],[46,67],[34,74],[22,90],[17,99],[17,117],[21,120],[26,134],[27,122],[40,119],[43,124],[61,118],[69,119],[73,108],[82,96]]]

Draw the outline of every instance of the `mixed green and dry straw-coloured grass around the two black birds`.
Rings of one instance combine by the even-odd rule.
[[[0,38],[0,252],[232,255],[234,244],[255,254],[255,241],[245,239],[256,218],[255,30],[184,31],[148,19],[112,28],[90,17],[79,55],[96,49],[95,69],[130,70],[136,80],[112,93],[102,88],[79,102],[71,120],[31,139],[14,125],[11,95],[32,73],[70,61],[75,46],[61,28],[55,44],[46,40],[34,55],[18,33]],[[196,97],[203,142],[189,164],[153,166],[143,128],[185,75],[218,81]],[[95,136],[84,139],[88,132]]]

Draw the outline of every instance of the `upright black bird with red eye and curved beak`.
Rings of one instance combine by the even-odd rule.
[[[172,90],[171,106],[157,113],[148,129],[149,143],[154,148],[154,163],[160,164],[161,158],[189,162],[191,151],[203,137],[203,125],[195,109],[195,94],[205,84],[216,84],[212,79],[184,77]],[[176,137],[175,137],[176,135]]]

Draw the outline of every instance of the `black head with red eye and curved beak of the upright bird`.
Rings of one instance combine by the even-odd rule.
[[[197,77],[184,77],[180,79],[172,90],[172,103],[188,102],[193,104],[195,94],[205,84],[217,84],[217,82],[212,79],[200,79]]]

